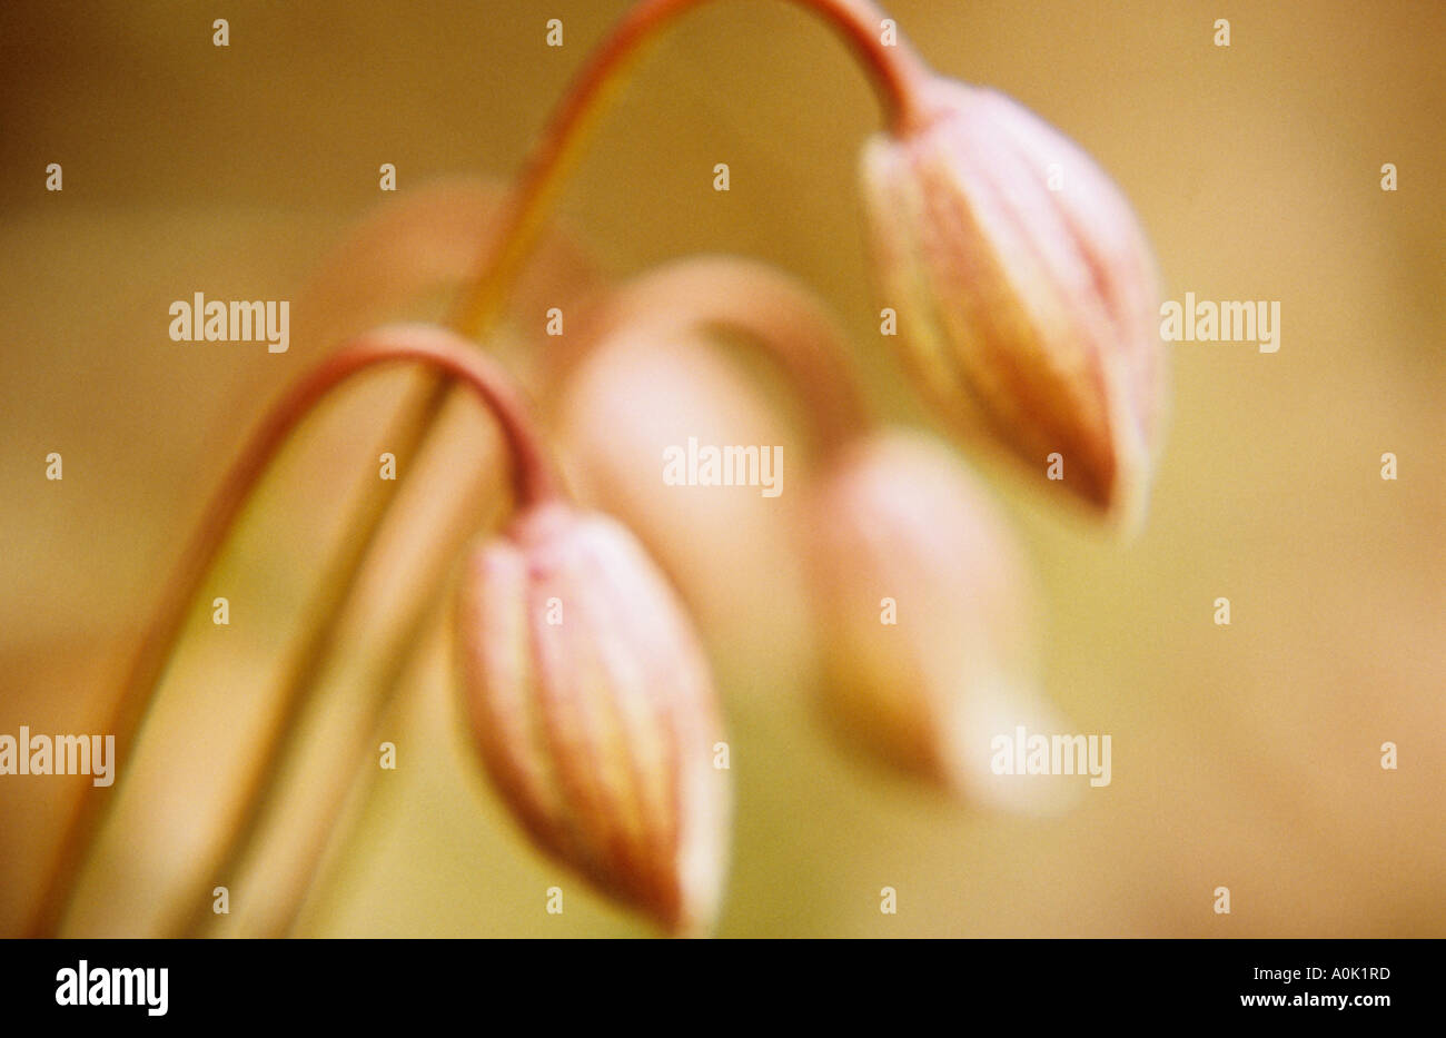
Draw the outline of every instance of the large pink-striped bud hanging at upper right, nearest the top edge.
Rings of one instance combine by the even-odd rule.
[[[863,153],[886,302],[944,418],[1138,522],[1160,434],[1154,259],[1073,142],[992,90],[920,85],[917,124]],[[1053,476],[1058,479],[1058,466]]]

